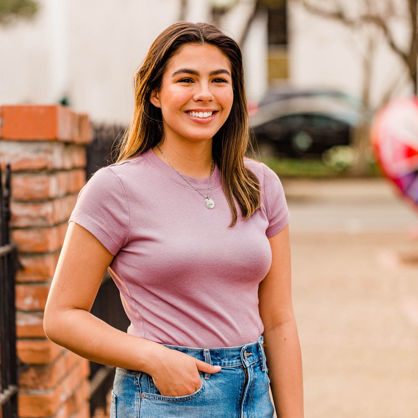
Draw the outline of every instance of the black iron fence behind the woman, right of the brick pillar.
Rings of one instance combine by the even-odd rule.
[[[120,125],[95,125],[93,141],[87,146],[87,179],[98,168],[112,163],[115,145],[125,131]],[[115,282],[106,272],[90,311],[111,326],[126,331],[130,324],[120,300]],[[106,408],[107,395],[113,386],[115,367],[90,362],[90,411],[93,416],[98,407]]]

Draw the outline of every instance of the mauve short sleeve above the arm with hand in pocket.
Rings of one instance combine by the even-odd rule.
[[[129,206],[120,178],[110,167],[96,171],[80,190],[68,222],[91,232],[113,255],[129,240]]]

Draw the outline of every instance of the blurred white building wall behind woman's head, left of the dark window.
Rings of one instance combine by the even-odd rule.
[[[133,74],[156,36],[178,20],[180,0],[38,2],[33,22],[0,27],[0,104],[68,97],[71,107],[95,121],[129,122]],[[210,5],[189,0],[186,18],[208,20]],[[254,20],[243,49],[248,91],[257,99],[267,83],[263,18]]]

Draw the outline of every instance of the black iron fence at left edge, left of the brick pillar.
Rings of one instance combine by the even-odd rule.
[[[5,173],[4,189],[0,170],[0,412],[3,418],[18,417],[18,372],[16,359],[15,270],[17,248],[10,243],[10,164]]]

